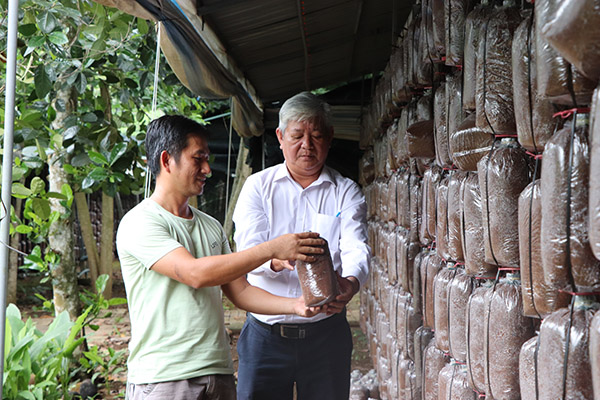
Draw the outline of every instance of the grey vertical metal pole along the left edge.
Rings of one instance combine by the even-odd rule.
[[[2,204],[5,210],[0,222],[0,398],[4,385],[4,335],[6,334],[6,291],[8,285],[8,247],[10,232],[10,192],[12,189],[13,136],[15,130],[15,82],[17,74],[17,13],[19,0],[8,0],[6,32],[6,92],[4,109],[4,153],[2,159]]]

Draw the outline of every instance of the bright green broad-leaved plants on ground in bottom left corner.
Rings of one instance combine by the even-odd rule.
[[[97,329],[94,320],[110,306],[123,304],[125,299],[104,299],[102,293],[108,281],[102,275],[96,282],[98,294],[86,291],[82,300],[86,310],[72,322],[67,312],[59,314],[42,333],[31,318],[23,322],[19,309],[11,304],[6,311],[6,337],[4,359],[4,398],[8,399],[68,399],[69,389],[80,370],[92,377],[108,376],[119,372],[124,350],[108,348],[105,352],[96,346],[84,351],[82,357],[74,355],[82,345],[85,327]],[[42,299],[43,297],[40,296]],[[46,299],[44,299],[46,300]],[[48,301],[48,300],[46,300]]]

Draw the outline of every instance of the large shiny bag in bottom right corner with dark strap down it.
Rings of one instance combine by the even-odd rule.
[[[589,331],[593,311],[561,308],[544,319],[538,352],[540,399],[592,399]],[[568,355],[566,355],[568,351]],[[565,379],[566,369],[566,379]]]

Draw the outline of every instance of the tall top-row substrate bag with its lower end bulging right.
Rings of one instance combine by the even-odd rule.
[[[561,121],[552,117],[552,103],[538,94],[534,35],[533,17],[529,15],[513,38],[513,100],[519,143],[531,152],[541,153]]]

